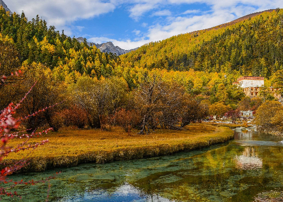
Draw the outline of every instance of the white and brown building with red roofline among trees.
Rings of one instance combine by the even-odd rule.
[[[244,89],[244,93],[246,96],[250,98],[257,97],[259,95],[261,87],[264,86],[264,77],[262,76],[242,76],[237,79],[236,82],[233,82],[234,85],[239,85]],[[278,99],[282,100],[281,95],[276,93],[279,88],[270,87],[269,91],[273,96]]]

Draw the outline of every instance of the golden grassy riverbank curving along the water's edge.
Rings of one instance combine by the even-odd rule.
[[[12,165],[25,156],[31,158],[22,172],[44,171],[52,168],[77,166],[82,163],[107,163],[190,151],[232,139],[234,133],[223,126],[194,124],[184,130],[156,130],[150,135],[128,134],[121,128],[111,131],[63,130],[32,138],[30,143],[49,139],[50,142],[30,151],[13,154],[5,159],[5,166]],[[12,140],[12,145],[21,143]],[[1,165],[3,168],[4,165]],[[1,169],[2,169],[1,168]]]

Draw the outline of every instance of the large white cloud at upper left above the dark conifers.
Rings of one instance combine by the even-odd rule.
[[[115,4],[101,0],[9,0],[11,11],[25,12],[31,20],[38,14],[49,25],[65,28],[79,19],[89,19],[114,11]]]

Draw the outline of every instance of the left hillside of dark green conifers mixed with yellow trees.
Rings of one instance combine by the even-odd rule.
[[[64,31],[60,34],[54,26],[48,28],[38,16],[28,21],[24,13],[9,15],[4,9],[0,9],[0,16],[0,33],[13,39],[10,42],[17,49],[21,64],[42,63],[51,69],[62,66],[69,73],[86,72],[100,77],[111,74],[119,60],[112,54],[101,53],[96,46],[88,46],[86,41],[79,43]]]

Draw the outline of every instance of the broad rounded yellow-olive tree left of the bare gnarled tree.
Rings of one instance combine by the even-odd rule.
[[[81,76],[69,87],[73,104],[88,113],[88,124],[91,128],[101,128],[107,116],[126,105],[128,86],[123,78],[110,79]]]

